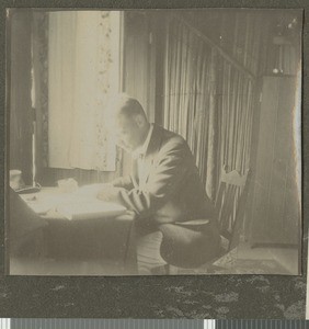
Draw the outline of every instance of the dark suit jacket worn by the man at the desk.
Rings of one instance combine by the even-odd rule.
[[[136,228],[144,227],[141,234],[145,228],[163,234],[160,253],[169,264],[195,268],[216,258],[220,237],[215,206],[205,193],[186,141],[154,125],[145,166],[141,188],[135,160],[133,174],[114,181],[118,189],[110,200],[137,214]]]

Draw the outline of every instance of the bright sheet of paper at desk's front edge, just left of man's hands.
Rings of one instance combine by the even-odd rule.
[[[112,217],[126,213],[124,206],[100,200],[62,203],[56,209],[59,214],[71,220]]]

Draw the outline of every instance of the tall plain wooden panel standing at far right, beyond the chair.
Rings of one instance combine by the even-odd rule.
[[[295,78],[265,77],[251,222],[251,243],[297,245],[299,202],[293,149]]]

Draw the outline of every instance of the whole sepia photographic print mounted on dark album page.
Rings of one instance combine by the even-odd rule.
[[[7,272],[300,274],[301,10],[7,11]]]

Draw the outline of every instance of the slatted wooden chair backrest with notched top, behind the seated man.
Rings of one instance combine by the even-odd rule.
[[[249,172],[248,169],[241,175],[237,170],[227,172],[226,166],[221,169],[216,207],[220,235],[226,241],[224,249],[227,251],[236,247],[239,241],[248,195]]]

